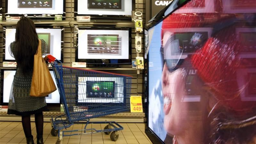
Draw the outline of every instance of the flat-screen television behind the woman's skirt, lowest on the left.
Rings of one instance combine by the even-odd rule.
[[[8,105],[12,82],[16,69],[1,69],[1,105]],[[57,87],[54,73],[50,70],[54,84]],[[51,106],[60,106],[60,93],[58,89],[45,97],[46,103]]]

